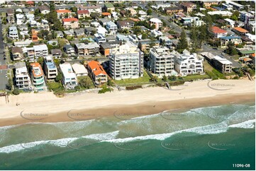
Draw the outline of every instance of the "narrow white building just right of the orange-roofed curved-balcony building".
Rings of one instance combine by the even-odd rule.
[[[57,76],[57,67],[52,59],[52,57],[45,57],[43,70],[48,79],[55,79]]]

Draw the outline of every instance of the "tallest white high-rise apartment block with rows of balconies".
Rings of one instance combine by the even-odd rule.
[[[143,76],[143,53],[133,42],[111,49],[109,57],[111,77],[115,80]]]

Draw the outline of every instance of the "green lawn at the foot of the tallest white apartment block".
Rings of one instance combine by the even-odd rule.
[[[137,79],[132,79],[132,78],[128,78],[128,79],[124,79],[124,80],[114,80],[114,82],[118,85],[118,86],[128,86],[131,84],[145,84],[145,83],[150,83],[150,76],[148,76],[148,73],[146,71],[143,71],[143,77],[137,78]]]

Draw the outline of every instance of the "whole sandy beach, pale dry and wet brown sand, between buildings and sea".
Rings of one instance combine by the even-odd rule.
[[[111,93],[74,93],[57,98],[53,93],[0,97],[0,126],[28,122],[74,122],[121,114],[155,114],[255,101],[255,81],[217,80],[186,82],[182,86],[122,90]],[[16,103],[20,105],[16,106]]]

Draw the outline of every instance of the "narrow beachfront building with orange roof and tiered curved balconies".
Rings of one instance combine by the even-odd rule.
[[[43,74],[43,69],[38,62],[30,64],[30,76],[31,82],[33,84],[33,89],[36,91],[47,90],[45,84],[45,76]]]

